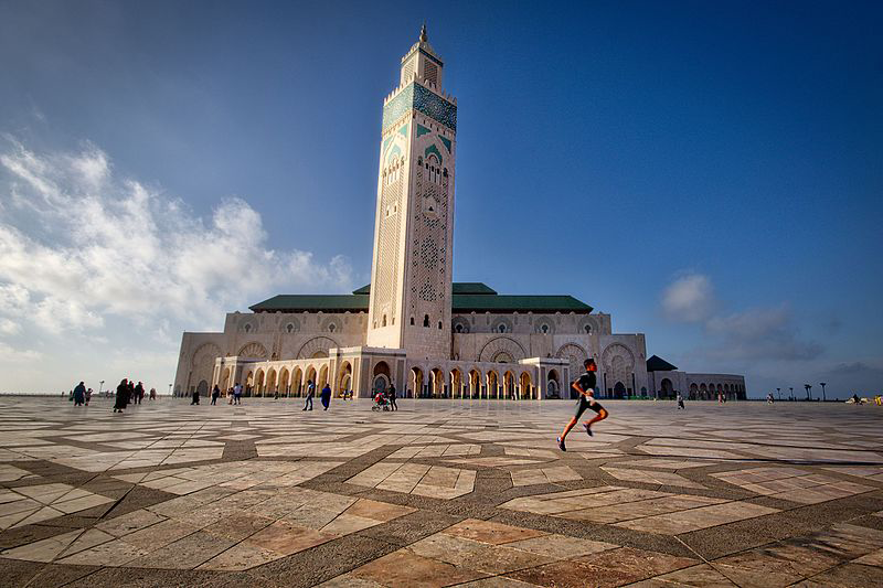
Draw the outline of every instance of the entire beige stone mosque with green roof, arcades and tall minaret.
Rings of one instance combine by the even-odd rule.
[[[453,282],[457,98],[426,28],[383,103],[371,285],[349,295],[279,295],[226,316],[223,332],[185,332],[177,394],[241,383],[300,396],[308,381],[370,397],[395,385],[428,398],[570,398],[583,361],[599,397],[745,398],[738,375],[688,374],[647,357],[642,333],[572,296],[501,295]]]

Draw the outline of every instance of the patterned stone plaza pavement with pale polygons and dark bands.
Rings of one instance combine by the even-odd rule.
[[[883,586],[883,410],[0,398],[1,586]]]

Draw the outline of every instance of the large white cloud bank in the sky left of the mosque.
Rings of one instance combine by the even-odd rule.
[[[34,329],[114,344],[119,335],[106,331],[121,320],[149,335],[145,344],[169,348],[181,331],[217,328],[224,312],[256,298],[352,285],[344,258],[319,263],[267,240],[260,214],[242,199],[227,197],[202,218],[183,201],[118,177],[92,143],[35,153],[6,137],[0,338]],[[168,361],[171,371],[177,357]]]

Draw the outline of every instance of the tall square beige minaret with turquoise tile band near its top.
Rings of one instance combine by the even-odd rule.
[[[426,38],[383,103],[368,345],[450,359],[457,99]]]

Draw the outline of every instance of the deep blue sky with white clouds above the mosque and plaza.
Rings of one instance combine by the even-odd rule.
[[[184,330],[366,284],[424,20],[455,280],[752,396],[883,391],[879,2],[0,0],[0,392],[164,392]]]

